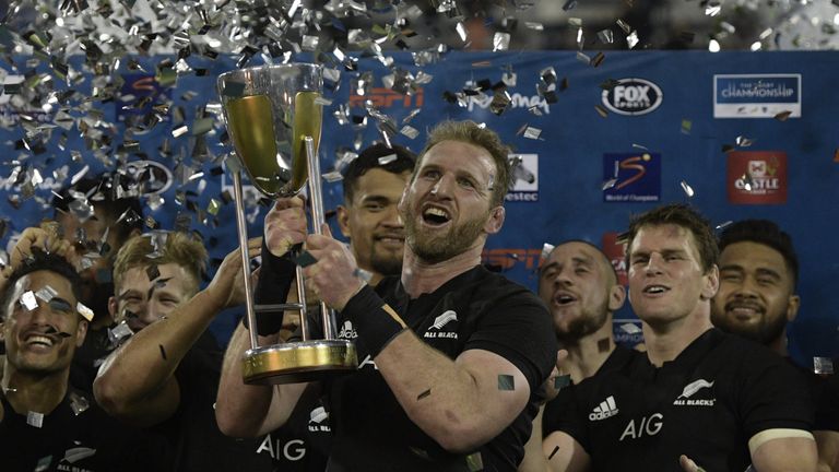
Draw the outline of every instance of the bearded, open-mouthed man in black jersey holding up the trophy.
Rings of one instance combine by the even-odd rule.
[[[307,286],[352,322],[358,358],[370,359],[322,385],[333,425],[328,470],[512,471],[521,461],[556,343],[544,305],[481,266],[487,236],[504,223],[508,152],[472,121],[432,131],[399,204],[401,278],[375,290],[355,276],[328,226],[306,234],[300,199],[281,199],[265,216],[261,270],[285,273],[276,290],[287,292],[287,251],[305,240],[316,259],[304,269]],[[306,385],[243,385],[248,346],[237,330],[216,417],[223,430],[249,436],[282,424]]]

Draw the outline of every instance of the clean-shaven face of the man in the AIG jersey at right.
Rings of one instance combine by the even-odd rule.
[[[653,327],[709,309],[719,275],[702,271],[693,233],[674,224],[638,229],[627,249],[629,302],[635,314]]]

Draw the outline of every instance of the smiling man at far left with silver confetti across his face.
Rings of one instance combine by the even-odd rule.
[[[2,469],[155,470],[137,432],[69,385],[71,358],[93,318],[79,303],[75,269],[56,252],[26,253],[5,274],[0,295],[0,340],[7,349],[0,381]]]

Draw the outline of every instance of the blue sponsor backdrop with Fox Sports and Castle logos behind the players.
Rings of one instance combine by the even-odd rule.
[[[422,149],[426,129],[445,118],[485,122],[522,161],[505,228],[489,239],[486,262],[532,288],[545,243],[579,238],[601,245],[605,238],[619,266],[617,247],[608,241],[625,231],[630,214],[658,203],[689,201],[718,224],[775,220],[792,235],[802,268],[802,308],[790,329],[791,352],[808,366],[813,356],[837,354],[839,323],[829,294],[839,256],[826,245],[839,233],[838,54],[627,51],[588,61],[575,52],[449,52],[422,67],[410,52],[392,57],[390,69],[364,58],[357,71],[336,64],[327,74],[326,96],[332,105],[320,148],[324,172],[341,151],[381,139],[381,121],[367,114],[365,101],[390,118],[386,129],[401,131],[393,141],[414,151]],[[114,157],[121,155],[125,162],[154,161],[172,170],[173,185],[162,192],[165,202],[147,211],[164,228],[173,227],[181,213],[206,237],[213,257],[235,248],[233,204],[222,197],[231,186],[222,172],[229,150],[218,143],[224,127],[215,93],[215,78],[233,69],[235,60],[189,58],[192,71],[177,80],[165,73],[155,79],[162,59],[137,58],[149,73],[117,71],[114,75],[126,81],[120,92],[86,105],[79,97],[92,93],[91,78],[71,85],[56,81],[56,90],[79,92],[67,101],[63,115],[57,115],[59,106],[11,106],[26,92],[10,86],[15,81],[7,78],[0,96],[7,142],[0,182],[7,197],[0,200],[4,240],[45,215],[44,202],[64,175],[85,165],[91,173],[120,165]],[[24,67],[22,60],[16,71],[3,66],[12,74],[50,73],[48,64]],[[81,69],[81,62],[74,67]],[[363,96],[359,76],[371,79],[364,82]],[[406,90],[411,94],[401,93]],[[138,103],[144,95],[151,99]],[[167,101],[169,113],[161,113],[161,122],[125,132],[126,116],[147,116],[149,107]],[[22,109],[46,125],[38,129],[43,150],[22,148]],[[79,128],[83,119],[113,142],[92,144],[90,131],[85,140]],[[59,122],[66,128],[52,127]],[[161,151],[164,141],[169,153]],[[54,176],[62,166],[64,173]],[[31,177],[34,170],[43,181],[36,179],[28,197],[20,184],[32,179],[21,175]],[[324,182],[324,190],[332,209],[340,201],[340,182]],[[261,217],[251,208],[256,235]],[[637,335],[626,327],[625,320],[634,318],[628,307],[618,318],[622,340]],[[216,334],[226,338],[233,319],[220,317]]]

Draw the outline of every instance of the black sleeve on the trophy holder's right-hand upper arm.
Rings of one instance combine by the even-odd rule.
[[[547,308],[522,291],[486,309],[466,342],[465,350],[470,349],[489,351],[512,363],[534,392],[556,364],[558,347]]]

